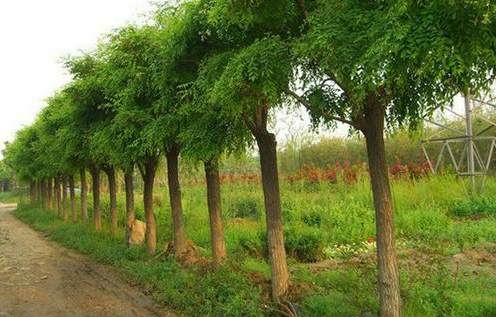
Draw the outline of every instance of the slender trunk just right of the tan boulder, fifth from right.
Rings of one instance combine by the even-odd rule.
[[[155,214],[153,213],[153,183],[155,181],[156,168],[157,159],[148,158],[145,163],[143,175],[143,203],[146,221],[146,246],[149,254],[155,254],[157,250],[157,226],[155,223]]]

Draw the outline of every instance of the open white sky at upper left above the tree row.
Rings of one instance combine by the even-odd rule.
[[[151,10],[149,0],[0,0],[0,149],[69,81],[60,60]]]

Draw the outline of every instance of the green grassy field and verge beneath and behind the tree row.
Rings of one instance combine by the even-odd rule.
[[[467,198],[451,176],[400,178],[392,183],[404,316],[496,316],[496,182]],[[375,224],[367,178],[353,182],[284,180],[281,184],[291,301],[301,316],[376,316]],[[120,227],[124,197],[119,194]],[[166,188],[154,196],[160,249],[172,238]],[[5,199],[6,196],[0,196]],[[142,206],[136,196],[138,217]],[[256,177],[224,179],[222,203],[230,260],[180,266],[165,253],[128,250],[123,232],[63,223],[53,212],[21,204],[21,220],[65,246],[118,267],[132,283],[192,316],[261,316],[270,305],[270,268],[264,260],[263,197]],[[209,255],[203,184],[183,186],[189,239]],[[108,202],[104,201],[105,217]],[[91,210],[90,210],[91,212]],[[108,218],[104,221],[108,224]]]

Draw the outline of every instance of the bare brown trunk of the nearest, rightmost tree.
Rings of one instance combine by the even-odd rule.
[[[384,116],[382,106],[375,102],[367,104],[363,132],[375,207],[381,316],[400,317],[400,281],[394,245],[393,202],[384,146]]]

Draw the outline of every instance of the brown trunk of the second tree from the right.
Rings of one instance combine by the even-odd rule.
[[[289,288],[289,272],[284,249],[284,231],[277,170],[277,143],[275,135],[267,131],[255,135],[260,152],[262,186],[267,222],[269,260],[272,271],[272,297],[284,298]]]

